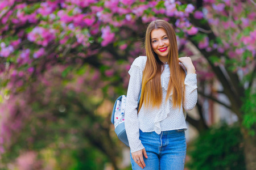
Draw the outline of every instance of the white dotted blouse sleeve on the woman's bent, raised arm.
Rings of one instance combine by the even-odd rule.
[[[197,103],[197,80],[196,74],[188,74],[185,77],[185,100],[183,107],[185,111],[192,110]]]

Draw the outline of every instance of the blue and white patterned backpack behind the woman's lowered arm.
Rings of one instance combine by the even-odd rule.
[[[141,92],[139,93],[139,100],[141,99]],[[138,100],[138,106],[139,106]],[[125,143],[126,146],[129,146],[127,134],[125,131],[125,107],[126,107],[126,96],[122,95],[115,100],[115,104],[112,111],[111,122],[115,126],[115,134],[117,137]],[[138,111],[137,107],[137,111]]]

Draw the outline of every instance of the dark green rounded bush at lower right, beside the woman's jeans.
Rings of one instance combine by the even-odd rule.
[[[243,170],[245,160],[240,128],[237,125],[212,127],[197,138],[188,150],[191,170]]]

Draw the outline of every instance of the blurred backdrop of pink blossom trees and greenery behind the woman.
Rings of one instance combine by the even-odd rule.
[[[131,169],[110,122],[148,23],[196,67],[185,169],[256,169],[254,0],[0,1],[0,169]]]

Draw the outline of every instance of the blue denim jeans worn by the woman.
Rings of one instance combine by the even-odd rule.
[[[160,134],[142,132],[139,130],[139,139],[145,147],[148,158],[143,155],[146,167],[143,169],[170,169],[184,170],[187,143],[184,129],[162,131]],[[131,157],[133,169],[142,169]]]

